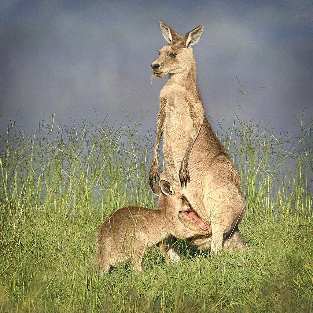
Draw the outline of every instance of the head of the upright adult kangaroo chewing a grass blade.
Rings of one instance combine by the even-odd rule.
[[[200,39],[203,25],[199,25],[184,36],[178,35],[162,21],[160,21],[160,26],[168,44],[160,50],[159,56],[151,64],[152,71],[157,77],[164,77],[167,74],[189,70],[195,64],[191,46]]]

